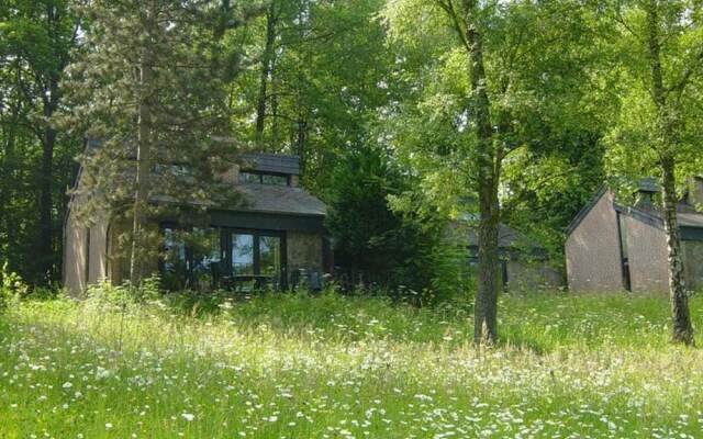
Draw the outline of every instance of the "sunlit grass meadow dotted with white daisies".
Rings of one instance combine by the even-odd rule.
[[[25,302],[0,316],[2,438],[695,438],[703,354],[660,296],[503,296],[502,344],[468,306],[183,296]],[[186,309],[186,312],[183,312]],[[703,301],[692,301],[701,328]]]

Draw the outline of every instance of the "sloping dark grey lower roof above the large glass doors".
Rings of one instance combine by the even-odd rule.
[[[238,184],[245,204],[236,211],[277,213],[287,215],[315,215],[326,213],[325,204],[301,188],[269,184]]]

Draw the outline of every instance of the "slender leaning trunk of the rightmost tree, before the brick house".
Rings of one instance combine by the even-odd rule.
[[[672,340],[693,345],[693,327],[689,312],[689,299],[683,280],[681,238],[677,218],[676,194],[676,117],[667,106],[667,91],[661,67],[661,36],[659,34],[658,4],[647,5],[649,67],[651,97],[657,106],[661,145],[659,146],[661,182],[663,191],[663,226],[667,235],[667,259],[669,269],[669,299],[671,302]]]

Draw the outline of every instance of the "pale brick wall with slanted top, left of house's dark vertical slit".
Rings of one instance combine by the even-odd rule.
[[[623,290],[617,217],[613,195],[605,192],[566,241],[569,290]]]

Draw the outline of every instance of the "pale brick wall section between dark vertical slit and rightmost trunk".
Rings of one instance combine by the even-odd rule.
[[[667,292],[667,239],[663,229],[623,215],[633,292]]]

